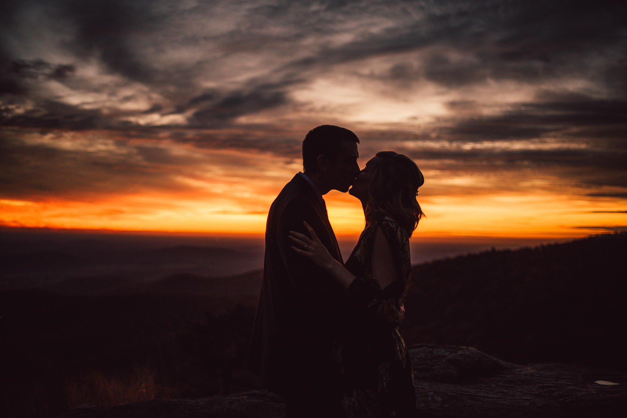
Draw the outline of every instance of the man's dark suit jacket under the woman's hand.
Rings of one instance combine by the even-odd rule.
[[[261,295],[247,369],[266,389],[283,397],[319,393],[339,367],[333,343],[347,305],[344,290],[324,270],[293,249],[290,230],[309,235],[312,227],[335,260],[342,255],[327,209],[300,174],[270,206]]]

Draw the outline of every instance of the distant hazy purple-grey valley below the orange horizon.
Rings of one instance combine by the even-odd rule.
[[[339,237],[338,240],[342,255],[349,257],[357,237]],[[451,243],[423,240],[416,233],[411,242],[412,263],[491,247],[516,248],[537,243],[537,240],[480,237]],[[233,291],[226,290],[230,287],[248,291],[258,286],[264,245],[261,236],[138,235],[0,228],[0,290],[35,287],[76,295],[180,293],[184,290],[231,295]],[[221,279],[219,285],[216,278],[224,280]]]

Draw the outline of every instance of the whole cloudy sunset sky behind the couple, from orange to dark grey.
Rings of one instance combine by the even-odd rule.
[[[0,226],[263,233],[325,124],[416,161],[421,237],[627,229],[627,6],[0,5]]]

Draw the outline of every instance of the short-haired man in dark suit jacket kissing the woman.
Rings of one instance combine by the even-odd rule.
[[[303,140],[304,173],[287,183],[270,206],[261,296],[247,368],[266,389],[287,399],[287,417],[332,417],[339,363],[332,360],[347,303],[333,278],[293,249],[290,231],[314,228],[330,255],[343,263],[322,198],[346,192],[359,175],[359,138],[345,128],[322,125]]]

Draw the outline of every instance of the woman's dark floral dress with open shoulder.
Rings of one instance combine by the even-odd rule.
[[[372,278],[370,263],[377,227],[391,245],[400,273],[384,289]],[[373,222],[362,232],[345,267],[357,277],[347,290],[353,306],[334,347],[334,359],[341,364],[346,416],[415,417],[413,371],[398,330],[411,281],[407,234],[389,217]]]

